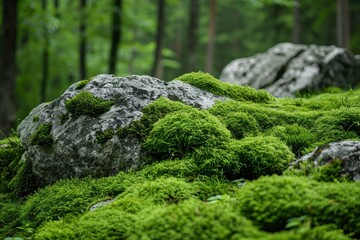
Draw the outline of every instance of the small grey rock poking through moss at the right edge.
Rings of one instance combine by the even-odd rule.
[[[360,181],[360,141],[345,140],[325,144],[296,160],[293,165],[298,166],[303,161],[310,161],[317,167],[335,159],[342,161],[342,174],[354,181]]]

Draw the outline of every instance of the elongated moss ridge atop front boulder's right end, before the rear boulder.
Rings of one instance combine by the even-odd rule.
[[[177,77],[177,79],[213,94],[226,96],[238,101],[252,101],[260,103],[274,100],[274,97],[264,90],[255,90],[254,88],[248,86],[232,85],[230,83],[221,82],[209,73],[186,73]]]

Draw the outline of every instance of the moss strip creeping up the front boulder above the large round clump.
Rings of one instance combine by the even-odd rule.
[[[165,97],[160,97],[144,107],[142,110],[143,115],[139,120],[133,121],[130,126],[120,128],[117,133],[120,137],[128,134],[135,134],[139,138],[145,139],[149,135],[154,123],[159,119],[165,117],[169,113],[189,109],[191,109],[190,106],[181,102],[171,101]]]

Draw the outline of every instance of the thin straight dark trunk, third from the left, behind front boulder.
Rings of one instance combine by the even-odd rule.
[[[80,79],[86,79],[86,0],[80,0],[80,26],[79,26],[79,33],[80,33],[80,45],[79,45],[79,54],[80,54]]]

